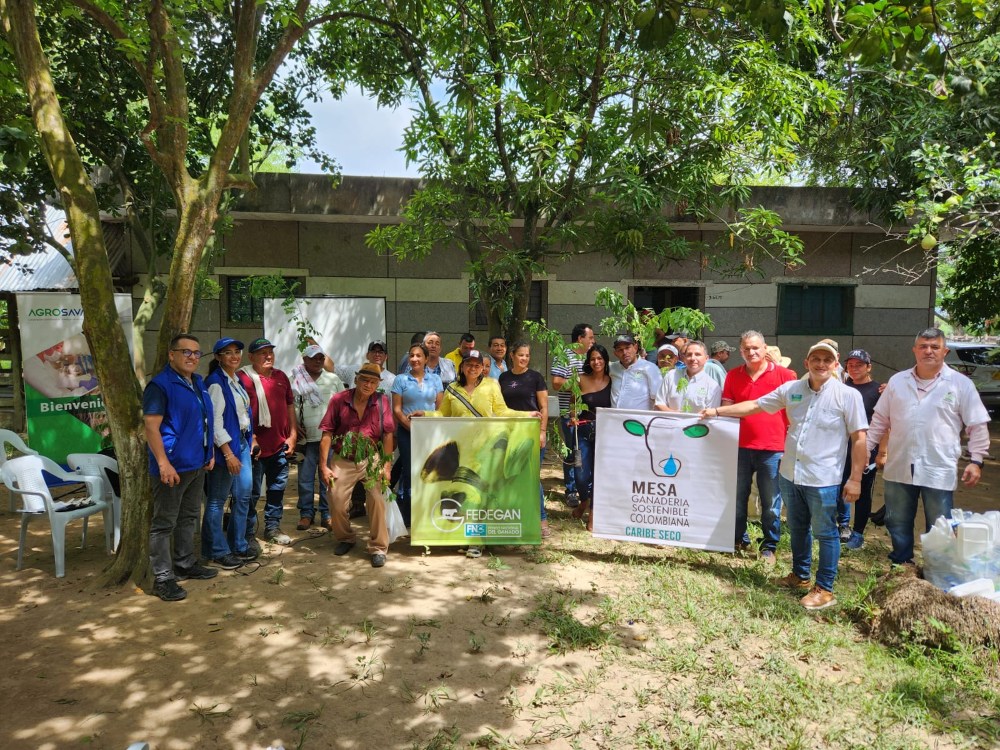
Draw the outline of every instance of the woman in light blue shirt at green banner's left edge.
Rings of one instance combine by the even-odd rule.
[[[410,347],[407,362],[409,372],[396,376],[392,384],[392,415],[396,420],[396,445],[399,448],[399,481],[396,483],[396,502],[403,516],[403,523],[410,526],[410,418],[421,417],[425,412],[441,406],[444,386],[441,377],[426,371],[427,347],[414,344]]]

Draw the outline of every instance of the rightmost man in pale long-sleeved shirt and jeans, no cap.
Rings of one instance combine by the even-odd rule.
[[[919,497],[928,530],[938,517],[951,515],[962,426],[971,457],[962,472],[966,487],[979,482],[990,447],[989,413],[972,381],[944,363],[947,354],[940,329],[918,333],[913,345],[916,366],[889,378],[868,431],[869,449],[889,432],[883,473],[885,527],[892,539],[889,559],[899,565],[913,562]]]

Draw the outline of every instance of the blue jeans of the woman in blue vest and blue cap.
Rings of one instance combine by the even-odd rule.
[[[232,447],[232,443],[229,444]],[[230,474],[226,464],[216,462],[208,474],[208,495],[205,515],[201,521],[201,556],[214,560],[231,552],[246,552],[247,510],[250,507],[250,482],[253,468],[250,465],[250,444],[240,438],[238,449],[233,451],[240,460],[239,474]],[[233,509],[229,514],[229,529],[224,535],[222,516],[229,495],[233,496]]]

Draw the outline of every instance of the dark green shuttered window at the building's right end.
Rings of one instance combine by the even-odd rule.
[[[851,335],[853,332],[853,286],[778,286],[779,336]]]

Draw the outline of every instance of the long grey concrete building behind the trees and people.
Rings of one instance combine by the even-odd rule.
[[[426,261],[398,261],[365,245],[373,227],[400,221],[418,180],[345,177],[332,188],[323,176],[272,174],[258,176],[257,184],[236,206],[233,231],[216,262],[222,293],[198,304],[192,330],[203,341],[219,335],[249,340],[259,332],[260,301],[249,298],[243,280],[275,273],[298,281],[298,293],[307,296],[384,297],[390,362],[398,360],[415,330],[441,332],[446,350],[466,330],[485,337],[485,320],[470,305],[462,251],[442,248]],[[739,277],[722,277],[700,256],[658,270],[651,262],[617,266],[595,254],[583,263],[550,264],[534,284],[530,317],[543,317],[567,333],[578,321],[596,326],[604,313],[594,306],[594,293],[607,286],[639,307],[704,310],[716,326],[704,334],[709,341],[735,345],[741,331],[756,328],[800,372],[806,349],[823,337],[836,339],[844,354],[855,347],[870,351],[879,379],[912,364],[913,336],[933,319],[934,278],[928,273],[913,280],[892,272],[906,254],[902,243],[887,239],[876,218],[854,210],[846,190],[759,188],[749,205],[776,211],[783,229],[802,238],[804,266],[769,262]],[[724,225],[681,218],[675,228],[712,241]],[[140,268],[127,266],[123,275]],[[134,290],[138,301],[141,284]],[[155,321],[146,351],[154,348]],[[738,361],[734,355],[731,362]],[[538,356],[535,366],[543,366]]]

